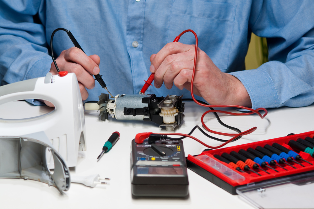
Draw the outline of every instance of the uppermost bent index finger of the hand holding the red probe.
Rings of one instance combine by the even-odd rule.
[[[165,58],[172,54],[177,54],[181,52],[190,51],[193,45],[186,45],[180,42],[170,42],[166,44],[151,60],[153,66],[151,66],[151,72],[156,72],[160,64],[165,60]],[[194,46],[195,47],[195,46]]]

